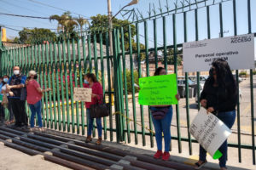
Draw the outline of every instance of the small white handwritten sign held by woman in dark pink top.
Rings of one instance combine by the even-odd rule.
[[[91,88],[73,88],[73,100],[91,102]]]

